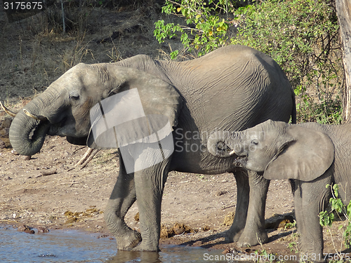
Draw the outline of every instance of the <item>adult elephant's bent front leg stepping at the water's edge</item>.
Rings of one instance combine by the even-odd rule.
[[[140,233],[124,222],[124,216],[135,199],[134,174],[126,173],[124,162],[120,157],[119,177],[105,209],[105,222],[116,237],[118,250],[131,250],[141,241]]]

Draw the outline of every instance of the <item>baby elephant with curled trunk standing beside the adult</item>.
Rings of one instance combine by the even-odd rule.
[[[300,251],[323,261],[319,212],[331,196],[326,184],[338,184],[344,203],[351,198],[351,124],[288,124],[265,121],[240,132],[219,131],[207,142],[215,156],[233,166],[260,172],[266,179],[293,179]]]

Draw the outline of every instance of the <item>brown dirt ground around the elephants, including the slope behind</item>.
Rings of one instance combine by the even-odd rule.
[[[155,11],[156,10],[156,11]],[[113,62],[132,55],[147,54],[167,59],[167,54],[180,48],[171,39],[159,44],[152,35],[153,22],[163,18],[152,6],[108,10],[92,8],[86,31],[81,34],[55,32],[45,16],[8,23],[0,11],[0,100],[18,111],[38,93],[45,90],[69,67],[78,62]],[[46,25],[46,26],[40,26]],[[117,32],[117,33],[116,33]],[[25,224],[38,231],[74,228],[100,232],[113,238],[105,227],[103,211],[117,180],[117,151],[99,151],[85,168],[74,165],[85,147],[74,146],[63,137],[47,136],[44,147],[32,159],[17,155],[8,142],[11,118],[0,109],[0,224],[20,227]],[[237,189],[232,174],[199,175],[171,172],[162,201],[162,244],[201,246],[208,250],[265,249],[278,255],[294,254],[296,228],[284,229],[278,224],[284,216],[293,215],[293,195],[289,182],[275,180],[267,196],[266,218],[270,241],[253,248],[237,248],[224,243],[224,232],[236,207]],[[138,229],[136,203],[126,215],[126,222]],[[280,215],[280,216],[279,216]],[[277,222],[273,223],[272,222]],[[175,226],[176,224],[176,226]],[[185,224],[185,225],[184,225]],[[325,250],[338,251],[342,229],[336,222],[324,229]],[[283,227],[282,227],[283,226]],[[344,251],[345,252],[345,251]],[[346,251],[347,252],[347,251]]]

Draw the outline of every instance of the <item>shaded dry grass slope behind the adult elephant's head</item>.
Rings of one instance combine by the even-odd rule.
[[[13,23],[0,11],[0,100],[6,106],[22,106],[22,100],[41,93],[79,62],[116,62],[138,54],[159,58],[163,56],[159,50],[169,53],[169,47],[153,36],[161,13],[152,6],[140,7],[135,1],[126,8],[67,7],[65,12],[72,29],[62,34],[58,10]],[[119,36],[111,39],[114,32]]]

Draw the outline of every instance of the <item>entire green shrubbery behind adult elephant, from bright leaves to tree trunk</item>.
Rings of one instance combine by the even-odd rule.
[[[230,43],[256,48],[286,72],[297,95],[298,121],[340,123],[343,65],[336,8],[329,0],[253,1],[241,7],[229,0],[179,0],[166,1],[162,11],[182,16],[187,25],[156,22],[159,42],[180,35],[185,49],[197,55]]]

